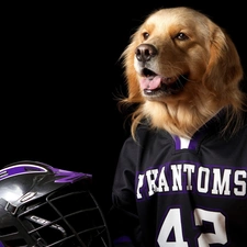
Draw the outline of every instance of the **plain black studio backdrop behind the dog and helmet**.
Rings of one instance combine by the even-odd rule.
[[[18,2],[2,9],[1,160],[37,160],[93,175],[103,210],[128,135],[116,105],[119,57],[145,16],[195,8],[226,29],[247,63],[242,1]]]

